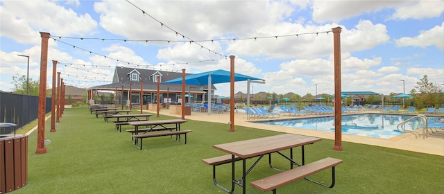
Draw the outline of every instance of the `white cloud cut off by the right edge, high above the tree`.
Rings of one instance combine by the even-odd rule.
[[[436,46],[441,51],[444,51],[444,22],[441,26],[434,26],[430,30],[421,31],[416,37],[402,37],[396,39],[395,43],[398,47],[404,46],[418,46],[425,48],[427,46]]]

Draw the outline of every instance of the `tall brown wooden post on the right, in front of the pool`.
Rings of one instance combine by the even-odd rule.
[[[341,27],[332,28],[334,46],[334,147],[333,150],[342,148],[342,104],[341,104]]]

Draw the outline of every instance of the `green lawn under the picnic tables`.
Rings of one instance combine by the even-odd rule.
[[[168,118],[172,117],[150,119]],[[229,132],[227,124],[189,120],[182,124],[182,130],[193,130],[186,145],[162,136],[144,139],[144,150],[138,150],[124,132],[132,127],[123,126],[119,133],[112,122],[95,118],[86,108],[65,109],[57,132],[49,132],[50,121],[45,134],[51,140],[48,152],[35,155],[36,130],[29,136],[28,185],[12,193],[225,193],[214,186],[212,167],[201,161],[225,155],[212,145],[279,134],[241,126]],[[347,142],[343,142],[343,151],[335,151],[333,145],[334,141],[323,139],[307,145],[305,155],[307,163],[325,157],[343,159],[336,167],[334,188],[300,180],[279,188],[278,193],[444,191],[444,157]],[[295,156],[300,156],[300,149]],[[284,159],[273,160],[276,166],[288,168]],[[276,173],[267,161],[259,162],[248,175],[248,183]],[[240,169],[238,166],[237,175],[241,175]],[[325,170],[312,178],[329,184],[330,176],[330,170]],[[220,184],[228,186],[230,165],[218,166],[218,177]],[[246,189],[247,193],[262,193],[249,184]],[[234,193],[241,193],[241,188],[237,186]]]

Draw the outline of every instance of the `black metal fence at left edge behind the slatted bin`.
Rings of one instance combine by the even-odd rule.
[[[15,123],[17,129],[38,118],[39,96],[0,92],[0,123]],[[45,113],[51,112],[51,98],[46,98]]]

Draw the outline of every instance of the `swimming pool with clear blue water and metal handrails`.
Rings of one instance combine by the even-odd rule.
[[[399,114],[355,114],[342,116],[342,133],[359,136],[372,136],[382,139],[389,139],[403,132],[396,130],[396,126],[403,121],[413,117],[413,115]],[[429,122],[434,122],[437,117],[428,117]],[[267,125],[279,125],[284,127],[294,127],[307,130],[319,130],[334,132],[334,116],[324,116],[317,118],[294,118],[279,121],[259,121]],[[405,125],[406,130],[416,130],[422,127],[420,119]]]

